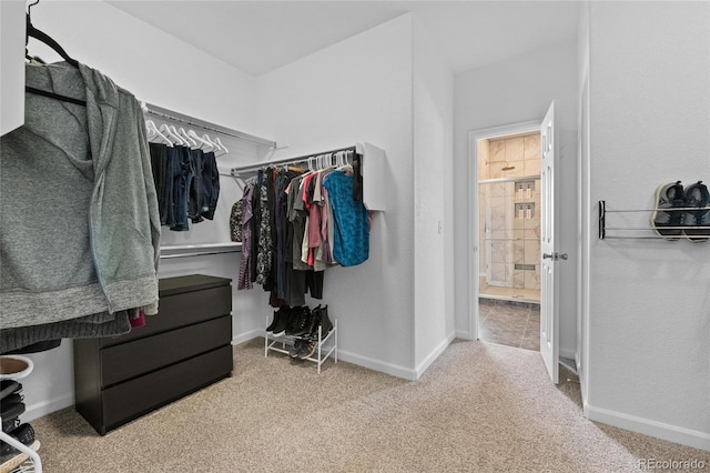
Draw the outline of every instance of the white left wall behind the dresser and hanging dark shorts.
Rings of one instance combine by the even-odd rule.
[[[141,100],[224,127],[253,132],[250,128],[255,107],[253,77],[108,3],[44,0],[32,8],[32,23],[54,38],[74,59],[105,73]],[[57,53],[38,41],[31,40],[29,47],[31,54],[48,62],[60,60]],[[230,159],[236,157],[231,155]],[[233,185],[225,183],[224,187],[225,193],[220,204],[236,198],[229,195],[230,192],[236,192]],[[225,209],[217,210],[223,212]],[[209,224],[215,225],[213,228],[220,225]],[[164,242],[178,239],[170,232],[163,233]],[[181,238],[184,240],[186,236]],[[187,261],[192,259],[161,263],[161,275],[203,272],[236,279],[239,263],[235,260],[239,258],[210,258],[214,264],[205,260]],[[239,314],[237,308],[245,303],[250,301],[235,296],[234,313]],[[244,324],[239,316],[235,316],[234,323],[235,333],[251,330],[248,321]],[[30,358],[34,360],[34,372],[22,380],[28,406],[23,419],[31,421],[73,404],[71,341],[64,340],[60,349]]]

